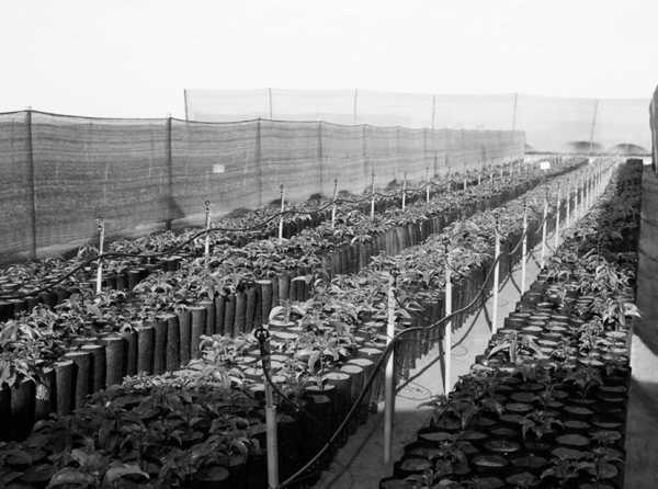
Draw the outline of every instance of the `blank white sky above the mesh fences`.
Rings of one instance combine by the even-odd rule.
[[[656,0],[0,0],[0,111],[183,116],[183,88],[649,98]]]

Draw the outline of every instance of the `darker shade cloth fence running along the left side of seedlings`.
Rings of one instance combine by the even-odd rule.
[[[203,123],[0,114],[0,261],[33,258],[95,236],[188,223],[280,195],[363,191],[523,157],[524,134],[411,129],[321,121]]]

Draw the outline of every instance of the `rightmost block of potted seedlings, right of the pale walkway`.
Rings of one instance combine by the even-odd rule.
[[[623,487],[640,175],[619,170],[382,488]]]

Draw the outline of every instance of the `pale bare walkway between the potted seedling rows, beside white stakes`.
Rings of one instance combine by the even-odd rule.
[[[548,237],[553,243],[553,236]],[[527,261],[526,288],[534,282],[538,273],[540,247],[532,251]],[[498,297],[498,327],[514,309],[520,298],[521,265],[518,264],[507,283],[500,289]],[[472,315],[465,325],[453,333],[452,350],[452,384],[469,372],[475,356],[480,354],[491,337],[492,298],[477,314]],[[411,377],[418,375],[398,391],[395,406],[393,433],[393,462],[400,458],[405,445],[416,440],[419,429],[428,421],[429,410],[418,409],[418,406],[429,400],[433,395],[443,394],[443,377],[439,348],[420,359]],[[376,414],[368,418],[366,424],[338,451],[331,466],[322,474],[316,484],[316,489],[377,489],[379,480],[393,475],[393,464],[384,464],[384,427],[382,406]],[[658,486],[656,486],[658,487]]]

